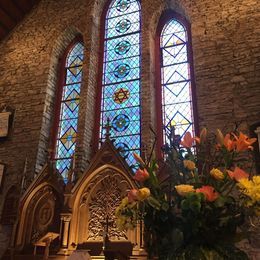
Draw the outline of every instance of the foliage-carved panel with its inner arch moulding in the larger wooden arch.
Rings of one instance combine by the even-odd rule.
[[[115,220],[115,210],[128,189],[130,187],[125,177],[114,170],[104,170],[90,181],[81,198],[81,208],[88,211],[88,214],[81,213],[79,220],[79,225],[82,226],[83,216],[88,216],[87,241],[103,240],[107,224],[110,240],[128,239],[126,232],[117,229]]]

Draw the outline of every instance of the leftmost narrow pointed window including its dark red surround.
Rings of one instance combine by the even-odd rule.
[[[77,36],[60,61],[52,136],[52,158],[65,182],[76,148],[83,58],[83,40]]]

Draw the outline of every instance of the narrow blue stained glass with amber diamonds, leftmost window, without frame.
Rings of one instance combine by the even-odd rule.
[[[82,62],[84,46],[81,42],[73,45],[66,57],[65,79],[59,116],[59,127],[56,141],[56,168],[67,180],[68,171],[75,152],[80,86],[82,80]]]

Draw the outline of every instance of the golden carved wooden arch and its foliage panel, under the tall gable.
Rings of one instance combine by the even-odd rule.
[[[138,230],[130,231],[127,234],[117,230],[114,217],[114,210],[120,204],[121,199],[126,196],[127,190],[136,187],[131,176],[110,164],[105,164],[85,176],[86,178],[72,194],[73,213],[69,245],[102,241],[102,233],[96,232],[92,224],[95,222],[95,226],[98,226],[100,232],[101,224],[106,220],[107,215],[112,222],[109,229],[111,241],[130,241],[138,244]],[[85,219],[85,230],[83,230],[81,223],[87,215],[88,219],[87,221]]]

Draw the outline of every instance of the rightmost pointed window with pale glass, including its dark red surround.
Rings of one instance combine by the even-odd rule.
[[[187,131],[198,131],[191,26],[173,10],[166,10],[159,20],[155,60],[157,154],[161,157],[172,127],[179,139]]]

